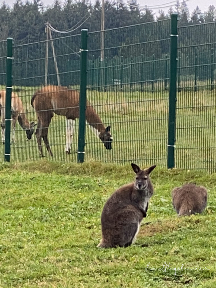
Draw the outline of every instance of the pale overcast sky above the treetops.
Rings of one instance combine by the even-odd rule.
[[[158,7],[162,7],[162,4],[166,4],[166,3],[170,3],[172,0],[138,0],[137,2],[141,5],[147,5],[147,6],[156,6],[158,5]],[[179,0],[179,2],[181,3],[183,0]],[[5,2],[10,5],[13,6],[13,3],[15,2],[15,0],[5,0]],[[51,5],[53,3],[53,0],[42,0],[43,4],[46,5]],[[64,0],[61,0],[61,2],[63,3]],[[94,1],[91,1],[94,2]],[[126,0],[124,1],[126,2]],[[196,8],[196,6],[199,6],[201,11],[207,11],[209,5],[212,5],[215,3],[215,0],[187,0],[187,6],[189,8],[190,14],[193,12],[193,10]],[[0,0],[0,3],[3,3],[3,0]],[[167,6],[167,5],[164,5]],[[175,5],[173,5],[174,7]],[[216,6],[216,4],[215,4]],[[155,12],[156,14],[158,14],[158,8],[151,8],[153,10],[153,12]],[[169,9],[169,7],[163,8],[163,10],[165,12],[167,12],[167,10]]]

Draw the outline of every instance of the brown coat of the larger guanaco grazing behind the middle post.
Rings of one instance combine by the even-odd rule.
[[[75,120],[76,118],[79,118],[79,91],[69,90],[67,87],[63,86],[49,85],[35,92],[31,99],[31,105],[35,109],[38,118],[38,127],[35,134],[41,156],[43,156],[41,137],[43,137],[47,150],[52,156],[47,137],[51,119],[54,113],[65,116],[67,119]],[[105,128],[96,111],[88,101],[86,101],[86,106],[87,122],[98,130],[100,133],[99,137],[105,147],[111,149],[112,137],[109,133],[110,126]],[[67,154],[70,153],[70,151],[66,152]]]

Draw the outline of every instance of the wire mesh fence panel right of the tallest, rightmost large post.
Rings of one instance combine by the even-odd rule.
[[[216,168],[216,23],[179,28],[176,167]]]

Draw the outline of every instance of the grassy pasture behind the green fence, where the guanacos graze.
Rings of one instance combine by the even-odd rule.
[[[160,84],[160,83],[159,83]],[[158,85],[159,85],[158,84]],[[183,85],[183,84],[182,84]],[[185,87],[190,83],[184,83]],[[203,83],[204,85],[204,83]],[[163,87],[163,83],[161,83]],[[14,89],[17,87],[14,86]],[[35,87],[19,87],[29,121],[36,114],[31,107]],[[166,167],[168,133],[168,91],[158,92],[98,92],[88,90],[88,99],[94,105],[105,125],[111,125],[113,149],[107,151],[101,141],[86,127],[86,160],[127,164],[158,164]],[[215,90],[203,86],[197,92],[182,90],[177,93],[176,150],[177,168],[216,171]],[[135,87],[134,87],[135,89]],[[27,141],[25,132],[17,124],[15,143],[11,145],[13,161],[39,160],[36,137]],[[65,154],[65,117],[54,115],[48,137],[54,161],[77,161],[78,120],[72,145],[72,154]],[[51,160],[43,146],[45,156]],[[3,145],[1,145],[3,157]]]

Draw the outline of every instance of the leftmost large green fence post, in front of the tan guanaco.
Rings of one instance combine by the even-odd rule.
[[[11,93],[13,38],[7,38],[6,101],[5,101],[5,161],[10,162]]]

